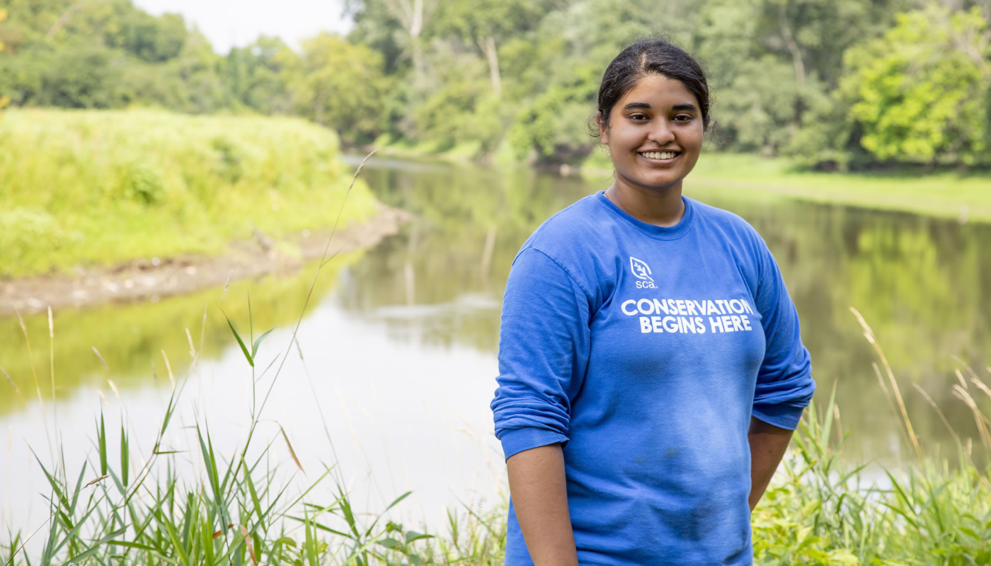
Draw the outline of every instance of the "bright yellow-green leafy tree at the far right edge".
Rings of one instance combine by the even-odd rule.
[[[844,94],[882,161],[991,164],[991,30],[977,8],[931,5],[899,16],[882,38],[849,50]]]

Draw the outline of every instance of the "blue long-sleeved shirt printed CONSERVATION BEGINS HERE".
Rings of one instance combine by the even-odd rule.
[[[794,429],[815,382],[760,236],[684,198],[672,227],[590,195],[523,244],[492,408],[505,457],[564,446],[585,564],[751,564],[751,414]],[[532,564],[510,503],[505,563]]]

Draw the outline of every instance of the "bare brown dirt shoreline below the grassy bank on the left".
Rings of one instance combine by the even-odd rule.
[[[409,214],[383,204],[362,223],[339,227],[329,254],[370,248],[398,232]],[[330,229],[303,231],[274,240],[256,232],[252,239],[233,242],[218,256],[179,256],[133,260],[108,268],[77,268],[73,273],[0,280],[0,316],[37,312],[49,306],[80,307],[107,302],[158,301],[165,296],[220,286],[230,281],[272,274],[289,274],[319,259]],[[298,250],[286,254],[282,249]]]

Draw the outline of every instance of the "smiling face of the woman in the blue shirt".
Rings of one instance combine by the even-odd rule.
[[[699,101],[680,80],[648,74],[612,106],[600,139],[609,147],[616,188],[681,191],[702,152]]]

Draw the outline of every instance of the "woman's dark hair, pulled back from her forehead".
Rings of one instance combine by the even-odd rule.
[[[648,74],[660,74],[682,81],[699,100],[703,128],[709,129],[709,83],[706,82],[702,65],[685,50],[660,38],[637,40],[612,59],[599,85],[598,120],[608,124],[612,105]]]

